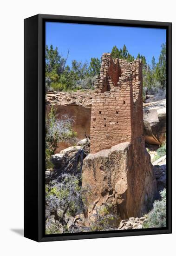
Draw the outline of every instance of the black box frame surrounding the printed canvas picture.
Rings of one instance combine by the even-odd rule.
[[[45,235],[45,22],[164,28],[167,34],[167,227]],[[172,23],[38,14],[24,20],[24,236],[38,242],[172,232]]]

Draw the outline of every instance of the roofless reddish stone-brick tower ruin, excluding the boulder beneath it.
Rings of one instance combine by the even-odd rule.
[[[142,61],[103,54],[91,108],[91,153],[143,140]]]

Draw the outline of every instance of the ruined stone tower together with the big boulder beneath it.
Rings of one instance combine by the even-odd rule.
[[[103,54],[91,108],[91,154],[82,167],[87,216],[111,205],[122,219],[149,212],[156,179],[144,144],[142,62]]]

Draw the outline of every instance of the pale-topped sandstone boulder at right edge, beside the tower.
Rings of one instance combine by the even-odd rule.
[[[161,145],[166,134],[166,99],[143,104],[145,141]]]

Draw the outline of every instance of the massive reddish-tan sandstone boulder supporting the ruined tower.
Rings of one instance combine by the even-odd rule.
[[[89,154],[83,162],[82,186],[90,190],[88,216],[103,204],[111,205],[121,219],[147,213],[155,198],[156,179],[144,143],[124,142]]]

